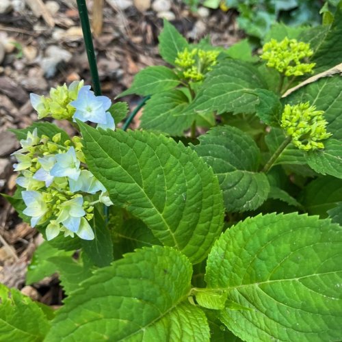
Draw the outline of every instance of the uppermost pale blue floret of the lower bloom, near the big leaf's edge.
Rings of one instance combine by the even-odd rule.
[[[70,147],[68,152],[56,155],[57,162],[50,171],[54,177],[68,177],[77,181],[81,170],[79,170],[80,161],[76,157],[75,148]]]

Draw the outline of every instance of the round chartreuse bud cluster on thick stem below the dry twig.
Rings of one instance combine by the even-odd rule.
[[[308,102],[299,105],[285,105],[281,127],[291,136],[292,143],[300,150],[324,148],[322,140],[332,134],[326,131],[328,122],[324,120],[324,111],[316,110]]]

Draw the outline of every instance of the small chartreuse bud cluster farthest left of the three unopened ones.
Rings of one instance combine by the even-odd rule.
[[[202,81],[215,64],[218,51],[204,51],[201,49],[184,49],[177,54],[174,64],[179,69],[181,77],[191,82]]]

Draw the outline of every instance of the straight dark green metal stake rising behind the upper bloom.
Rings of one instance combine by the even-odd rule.
[[[101,95],[101,86],[100,79],[98,79],[96,57],[94,45],[92,44],[92,31],[90,31],[86,0],[77,0],[77,8],[79,9],[79,20],[81,21],[84,44],[86,45],[90,74],[92,75],[92,85],[94,87],[95,95],[99,96]]]

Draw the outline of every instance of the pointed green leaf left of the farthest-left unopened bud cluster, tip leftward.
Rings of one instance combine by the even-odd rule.
[[[117,97],[129,94],[153,95],[170,90],[178,85],[179,78],[170,68],[166,66],[148,66],[135,75],[131,88]]]

